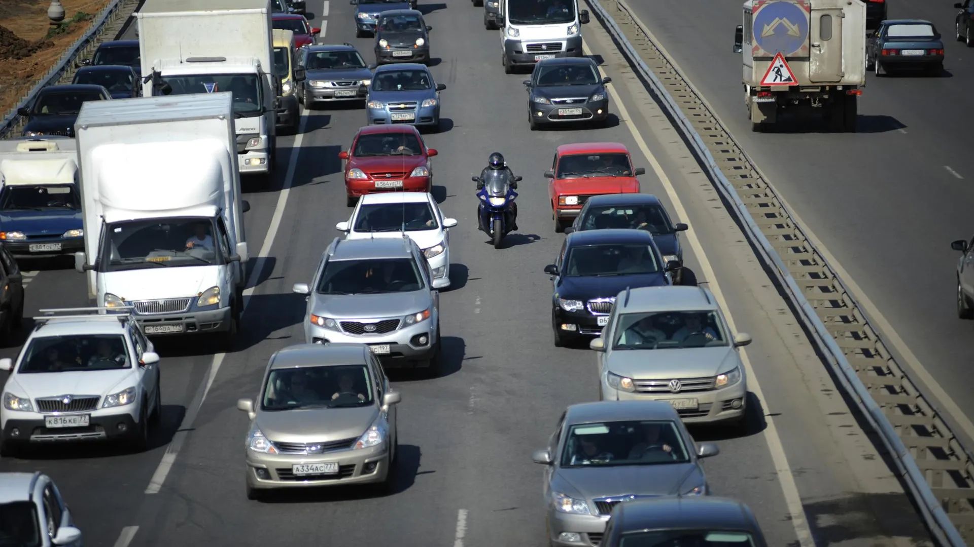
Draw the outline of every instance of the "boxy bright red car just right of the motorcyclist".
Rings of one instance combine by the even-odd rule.
[[[581,206],[592,196],[603,194],[639,194],[637,176],[646,174],[645,167],[632,168],[629,150],[618,142],[586,142],[558,147],[551,170],[544,171],[551,201],[554,231],[579,216]]]

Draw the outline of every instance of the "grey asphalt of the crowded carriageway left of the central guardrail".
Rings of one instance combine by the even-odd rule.
[[[304,132],[279,139],[275,187],[245,196],[252,207],[248,240],[259,258],[251,265],[239,344],[213,356],[202,343],[157,343],[165,416],[154,448],[124,454],[57,446],[0,460],[0,470],[54,477],[94,547],[543,545],[542,470],[530,455],[565,406],[598,393],[590,350],[552,345],[543,266],[563,236],[554,234],[542,173],[559,144],[617,141],[647,168],[643,191],[691,225],[684,241],[693,276],[710,283],[734,325],[755,340],[745,352],[752,392],[746,427],[693,430],[722,450],[706,461],[712,491],[748,503],[773,545],[923,544],[926,532],[909,500],[713,188],[598,23],[585,27],[586,45],[614,78],[611,111],[618,116],[608,128],[532,132],[525,76],[504,74],[498,33],[483,29],[481,8],[450,0],[420,9],[433,27],[433,75],[448,87],[443,131],[426,136],[439,150],[434,193],[460,224],[451,235],[453,286],[441,297],[445,373],[434,380],[390,374],[402,392],[396,492],[296,492],[266,503],[244,497],[247,424],[236,401],[256,394],[273,351],[303,342],[305,303],[290,287],[309,280],[339,235],[334,224],[349,215],[337,154],[363,123],[360,105],[305,111]],[[325,2],[309,11],[323,28],[321,43],[351,42],[372,58],[372,40],[355,38],[353,7]],[[495,150],[524,176],[520,234],[498,250],[476,230],[469,182]],[[914,264],[915,252],[901,248],[895,256]],[[28,314],[86,305],[84,278],[70,264],[24,269]]]

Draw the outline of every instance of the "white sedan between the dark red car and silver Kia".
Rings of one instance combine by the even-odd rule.
[[[346,239],[411,237],[430,263],[432,288],[445,289],[450,286],[450,228],[456,225],[456,219],[443,218],[429,192],[383,192],[362,196],[352,218],[335,228]]]

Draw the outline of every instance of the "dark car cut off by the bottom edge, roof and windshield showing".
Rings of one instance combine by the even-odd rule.
[[[632,501],[619,499],[610,503],[616,506],[599,543],[602,547],[768,547],[754,513],[735,499],[682,495]]]

